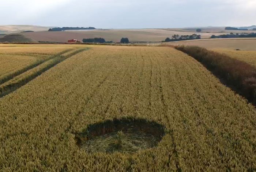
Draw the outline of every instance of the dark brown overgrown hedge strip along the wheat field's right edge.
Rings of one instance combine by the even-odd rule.
[[[204,65],[222,84],[256,105],[256,68],[249,63],[197,46],[177,46]]]

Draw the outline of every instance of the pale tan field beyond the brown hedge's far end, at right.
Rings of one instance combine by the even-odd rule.
[[[178,41],[163,43],[167,45],[190,45],[190,46],[199,46],[207,49],[241,49],[247,51],[256,51],[256,38],[248,39],[201,39],[201,40],[189,40],[189,41]]]

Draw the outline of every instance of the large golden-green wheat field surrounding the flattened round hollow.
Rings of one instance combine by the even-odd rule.
[[[32,79],[0,98],[1,171],[255,171],[255,107],[192,57],[169,47],[95,45],[64,58],[33,68],[39,75],[21,74]],[[118,127],[116,119],[134,120]],[[164,127],[153,130],[162,133],[153,146],[145,124]],[[121,149],[78,144],[90,136]]]

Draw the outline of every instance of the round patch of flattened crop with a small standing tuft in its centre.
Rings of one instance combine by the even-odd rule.
[[[75,139],[89,153],[135,153],[156,147],[164,135],[165,127],[155,121],[121,118],[91,124]]]

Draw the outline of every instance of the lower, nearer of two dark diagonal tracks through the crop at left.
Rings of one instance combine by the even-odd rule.
[[[63,55],[55,55],[54,58],[50,59],[53,60],[51,63],[49,64],[45,64],[45,66],[39,68],[37,71],[31,72],[31,74],[29,73],[28,75],[25,75],[26,72],[29,72],[30,70],[27,70],[26,72],[23,72],[22,74],[24,74],[24,77],[20,77],[18,79],[16,79],[15,77],[5,83],[3,83],[2,85],[0,85],[0,98],[4,97],[12,92],[14,92],[16,89],[22,87],[23,85],[26,85],[29,81],[35,79],[37,76],[41,75],[42,73],[48,71],[50,68],[54,67],[55,65],[61,63],[62,61],[68,59],[69,57],[72,57],[82,51],[88,50],[89,48],[80,48],[77,49],[76,51],[73,51],[71,53],[69,53],[66,56]],[[69,51],[68,51],[69,52]],[[63,54],[63,53],[62,53]],[[48,60],[48,61],[50,61]],[[47,63],[48,61],[45,61],[45,63]],[[41,65],[44,65],[44,63],[41,63]],[[37,67],[40,67],[40,65],[37,65]],[[36,68],[36,67],[35,67]],[[32,68],[31,70],[35,69]],[[21,75],[22,75],[21,74]],[[19,75],[20,76],[20,75]],[[17,76],[18,77],[18,76]],[[11,82],[13,80],[13,82]]]

